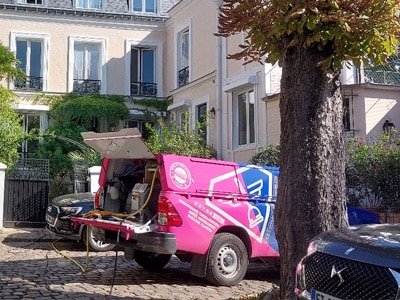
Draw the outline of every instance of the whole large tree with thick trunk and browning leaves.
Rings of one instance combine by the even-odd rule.
[[[339,74],[344,62],[379,65],[396,53],[399,9],[398,0],[225,0],[220,8],[217,34],[244,34],[229,58],[282,66],[274,217],[282,299],[295,298],[308,241],[348,224]]]

